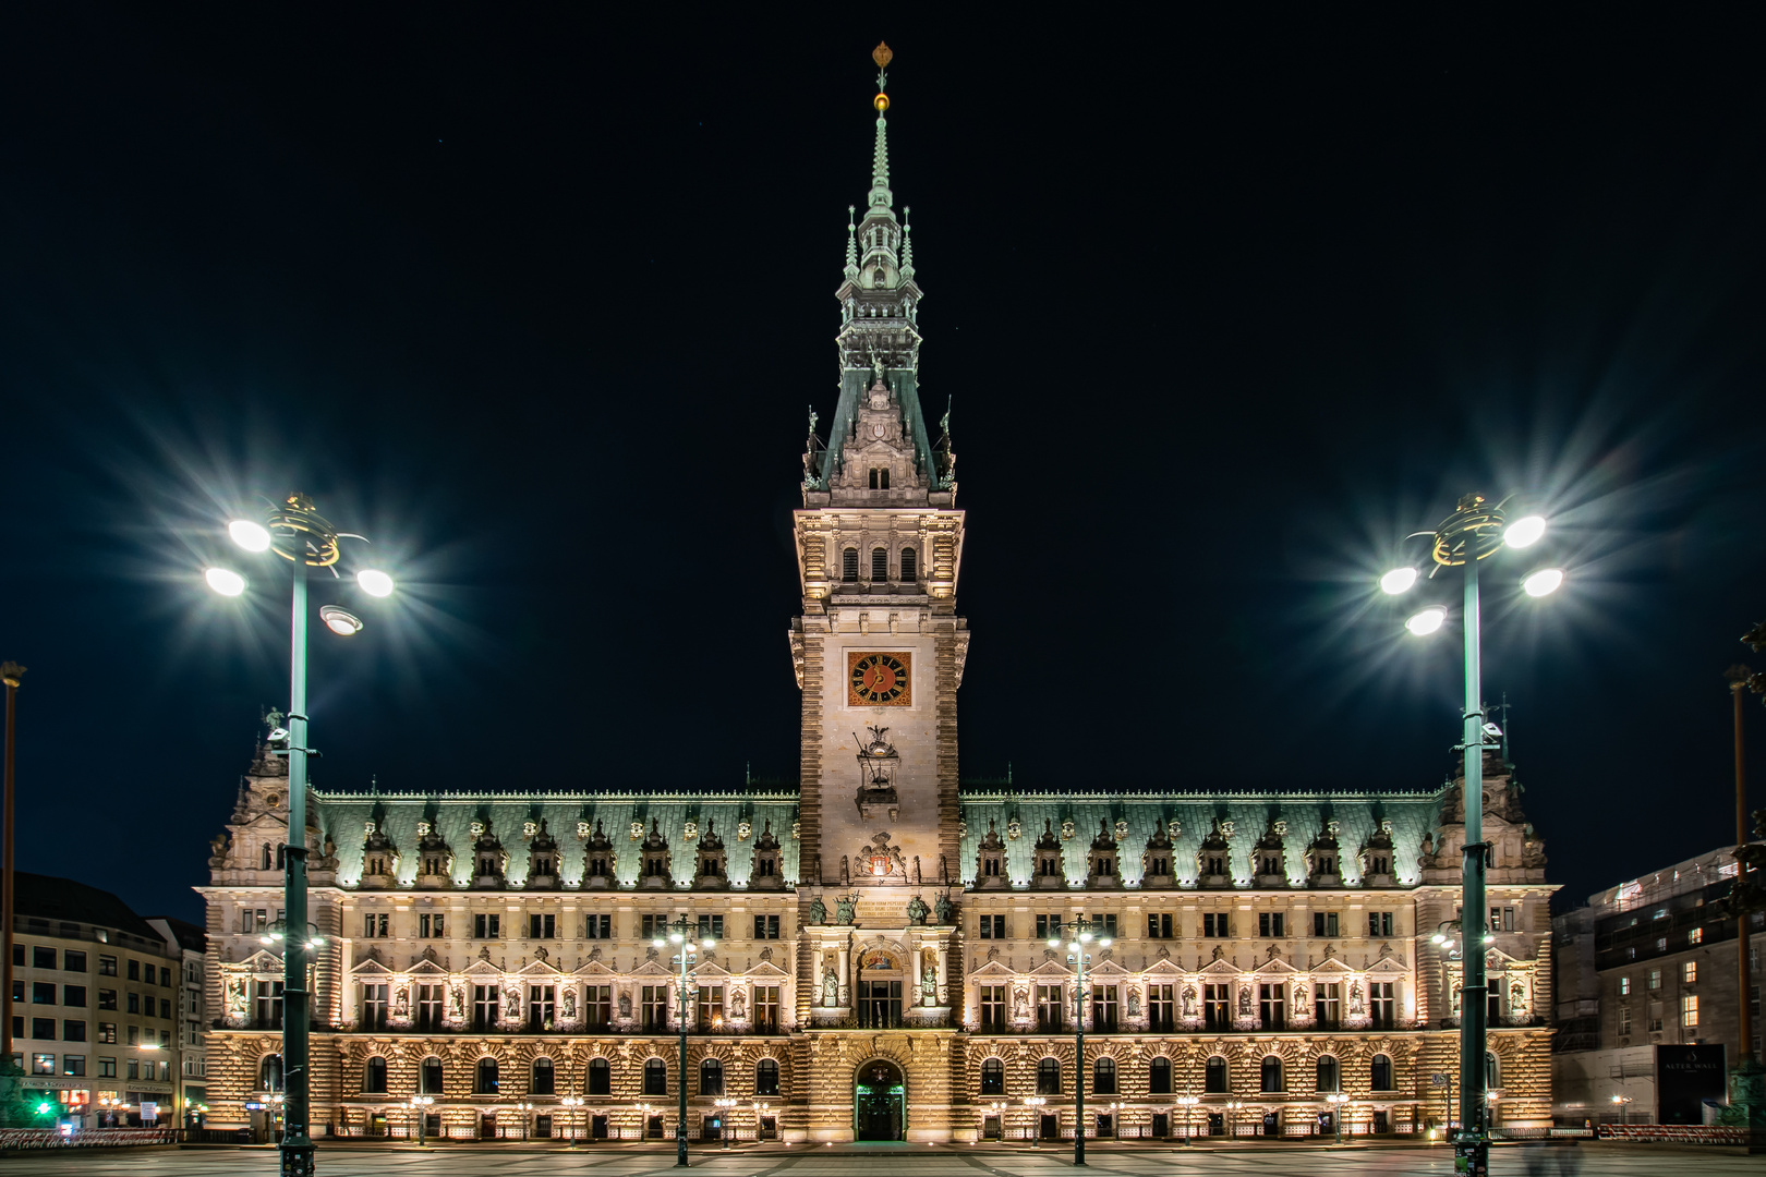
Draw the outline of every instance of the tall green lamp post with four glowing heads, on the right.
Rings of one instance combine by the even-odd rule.
[[[1489,865],[1489,843],[1483,842],[1483,752],[1485,734],[1491,731],[1483,715],[1483,667],[1482,633],[1478,607],[1478,561],[1496,556],[1505,547],[1531,547],[1545,535],[1545,521],[1538,515],[1526,515],[1508,521],[1503,503],[1487,505],[1482,494],[1468,494],[1434,531],[1420,531],[1418,536],[1430,536],[1432,559],[1438,568],[1460,568],[1464,572],[1464,639],[1466,639],[1466,715],[1464,739],[1457,748],[1464,755],[1466,808],[1466,845],[1464,866],[1460,872],[1460,932],[1464,937],[1464,958],[1460,974],[1460,1036],[1459,1036],[1459,1091],[1460,1108],[1468,1113],[1460,1119],[1459,1138],[1453,1156],[1464,1161],[1460,1172],[1469,1177],[1485,1177],[1491,1168],[1491,1133],[1485,1108],[1485,1039],[1489,1034],[1485,1008],[1485,882],[1483,872]],[[1416,536],[1411,536],[1416,538]],[[1408,591],[1418,579],[1416,568],[1393,568],[1379,579],[1379,588],[1397,595]],[[1545,596],[1563,584],[1561,568],[1538,568],[1531,572],[1521,588],[1528,596]],[[1446,609],[1430,605],[1409,618],[1406,628],[1411,633],[1434,633],[1446,621]],[[1476,951],[1475,951],[1476,946]],[[1471,1122],[1469,1108],[1478,1108],[1478,1122]]]

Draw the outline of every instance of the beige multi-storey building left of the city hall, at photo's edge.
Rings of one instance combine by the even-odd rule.
[[[81,1128],[171,1122],[180,953],[108,891],[18,872],[12,1061]]]

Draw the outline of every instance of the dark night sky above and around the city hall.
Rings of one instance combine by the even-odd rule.
[[[789,510],[878,39],[968,508],[966,778],[1439,785],[1459,632],[1374,577],[1480,489],[1554,521],[1485,566],[1485,683],[1559,898],[1727,845],[1748,5],[1169,11],[9,5],[19,866],[200,918],[288,685],[281,570],[200,574],[251,572],[221,526],[290,489],[401,581],[318,584],[369,626],[313,637],[320,787],[795,782]],[[1517,600],[1536,563],[1565,589]]]

